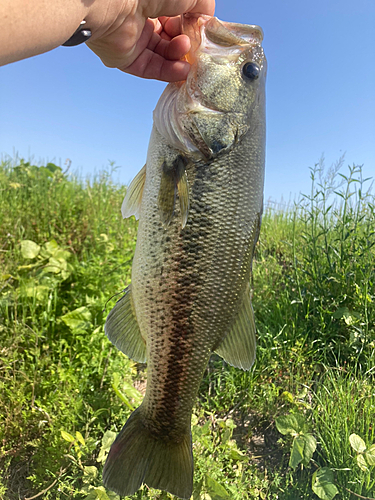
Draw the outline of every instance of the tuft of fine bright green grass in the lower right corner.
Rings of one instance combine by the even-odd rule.
[[[375,442],[373,379],[366,375],[354,377],[345,370],[327,370],[317,384],[314,399],[313,421],[318,431],[320,460],[336,469],[343,493],[351,489],[374,496],[375,471],[358,467],[349,444],[353,433],[364,438],[368,447]]]

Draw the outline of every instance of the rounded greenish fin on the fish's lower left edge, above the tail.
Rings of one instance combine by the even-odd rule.
[[[108,314],[105,333],[112,344],[129,358],[138,363],[146,362],[146,342],[135,317],[131,285]]]

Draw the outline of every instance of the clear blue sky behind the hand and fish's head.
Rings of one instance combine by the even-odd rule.
[[[259,24],[268,59],[265,198],[309,190],[309,167],[363,164],[375,177],[374,0],[218,0],[219,19]],[[108,69],[86,46],[0,68],[0,154],[72,161],[82,175],[143,166],[165,84]]]

